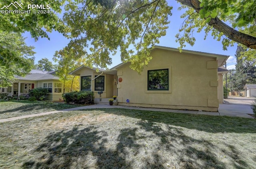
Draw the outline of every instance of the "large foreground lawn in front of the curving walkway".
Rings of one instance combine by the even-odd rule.
[[[0,168],[256,168],[256,121],[126,109],[0,123]]]

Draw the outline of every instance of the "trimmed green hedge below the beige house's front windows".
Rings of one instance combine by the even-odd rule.
[[[66,103],[85,104],[93,103],[94,93],[91,91],[70,92],[63,94]]]

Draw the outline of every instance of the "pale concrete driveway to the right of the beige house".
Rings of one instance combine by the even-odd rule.
[[[250,105],[254,99],[247,97],[228,97],[224,99],[224,104],[220,104],[218,112],[221,116],[253,118],[248,114],[253,114]]]

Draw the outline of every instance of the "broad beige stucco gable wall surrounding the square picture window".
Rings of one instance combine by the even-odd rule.
[[[118,68],[119,105],[217,111],[216,58],[164,49],[153,50],[151,56],[141,75],[129,63]],[[168,91],[147,90],[147,71],[156,69],[169,69]]]

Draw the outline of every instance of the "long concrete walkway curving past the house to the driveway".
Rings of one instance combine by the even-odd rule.
[[[96,108],[126,108],[133,110],[149,110],[149,111],[159,111],[159,112],[173,112],[173,113],[187,113],[187,114],[205,114],[205,115],[214,115],[214,116],[234,116],[234,117],[244,117],[244,118],[253,118],[248,114],[253,114],[252,109],[249,110],[248,106],[239,107],[241,105],[232,105],[232,104],[220,104],[219,112],[202,112],[202,111],[188,111],[188,110],[170,110],[170,109],[160,109],[160,108],[140,108],[140,107],[128,107],[128,106],[110,106],[104,104],[94,104],[90,106],[81,106],[76,108],[69,108],[64,110],[56,110],[52,112],[30,114],[26,116],[18,116],[6,119],[0,119],[0,122],[10,122],[14,120],[19,120],[23,118],[30,118],[36,116],[43,116],[47,114],[54,114],[59,112],[73,111],[73,110],[82,110],[82,109],[96,109]]]

